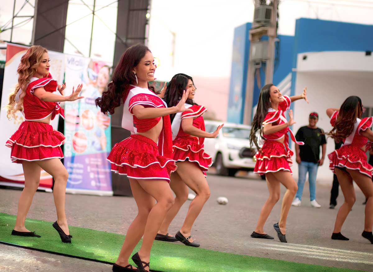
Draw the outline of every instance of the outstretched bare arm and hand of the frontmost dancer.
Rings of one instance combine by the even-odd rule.
[[[184,91],[180,102],[176,106],[170,108],[145,108],[142,105],[136,105],[132,108],[132,112],[138,119],[157,118],[173,113],[182,113],[184,111],[193,112],[192,109],[185,108],[184,106],[188,95],[189,90],[187,90],[186,92]]]

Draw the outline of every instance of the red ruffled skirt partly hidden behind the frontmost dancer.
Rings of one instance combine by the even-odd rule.
[[[209,170],[212,165],[211,156],[205,153],[197,137],[176,137],[173,140],[172,150],[175,161],[195,162],[203,172]]]

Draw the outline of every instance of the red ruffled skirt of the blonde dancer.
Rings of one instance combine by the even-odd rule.
[[[44,159],[63,158],[61,145],[65,136],[54,130],[50,124],[35,121],[23,121],[18,130],[5,145],[12,149],[12,162],[42,161]]]

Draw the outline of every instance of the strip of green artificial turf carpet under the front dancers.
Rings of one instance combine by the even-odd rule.
[[[26,227],[28,230],[35,231],[37,234],[41,235],[41,238],[10,235],[15,221],[16,216],[0,213],[0,241],[102,262],[115,262],[125,238],[125,236],[121,234],[70,226],[70,234],[73,235],[72,243],[65,244],[61,242],[51,222],[35,219],[26,219]],[[139,248],[140,247],[137,246],[134,253],[137,252]],[[150,264],[151,269],[163,272],[351,271],[351,269],[330,268],[319,265],[223,253],[161,241],[154,241],[150,256]]]

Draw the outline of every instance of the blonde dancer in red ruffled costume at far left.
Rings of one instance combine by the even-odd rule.
[[[32,197],[39,186],[40,170],[44,169],[54,178],[53,197],[56,205],[57,221],[53,227],[64,243],[71,243],[71,235],[65,214],[65,191],[68,172],[60,161],[63,153],[60,146],[65,141],[62,133],[53,130],[50,120],[60,114],[63,109],[59,102],[75,101],[79,97],[82,85],[63,96],[65,85],[59,86],[49,73],[49,57],[46,48],[40,45],[30,47],[21,58],[18,66],[18,84],[9,95],[7,117],[15,118],[22,111],[25,121],[7,140],[6,146],[12,149],[12,162],[20,163],[25,175],[25,188],[18,202],[16,225],[12,235],[40,237],[25,227],[25,220]],[[53,92],[59,91],[61,95]]]

